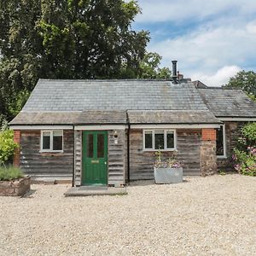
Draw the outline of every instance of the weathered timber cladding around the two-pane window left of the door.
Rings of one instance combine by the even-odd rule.
[[[63,153],[40,153],[41,131],[21,131],[20,167],[32,177],[72,179],[73,131],[63,131]]]

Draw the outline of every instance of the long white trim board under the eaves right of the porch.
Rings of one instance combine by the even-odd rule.
[[[219,128],[220,124],[214,125],[131,125],[131,129],[202,129],[202,128]]]

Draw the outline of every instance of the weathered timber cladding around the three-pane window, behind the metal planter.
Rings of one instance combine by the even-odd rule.
[[[177,130],[177,160],[183,161],[184,175],[201,175],[201,130]],[[162,152],[163,158],[173,152]],[[143,130],[130,131],[130,177],[136,179],[154,178],[155,152],[143,151]]]

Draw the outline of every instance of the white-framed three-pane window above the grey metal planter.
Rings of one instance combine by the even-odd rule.
[[[144,130],[143,149],[176,150],[176,131],[174,130]]]

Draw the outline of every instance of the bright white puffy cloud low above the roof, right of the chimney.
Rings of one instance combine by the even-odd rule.
[[[203,73],[195,73],[192,75],[192,80],[201,80],[202,83],[208,86],[221,86],[227,84],[231,77],[235,76],[236,73],[241,71],[240,67],[237,66],[226,66],[218,69],[217,73],[207,75]]]

